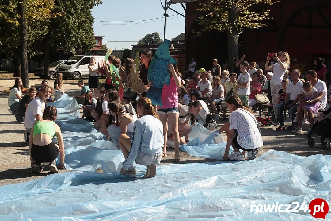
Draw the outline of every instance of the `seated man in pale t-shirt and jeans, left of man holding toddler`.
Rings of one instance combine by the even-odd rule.
[[[292,82],[287,85],[286,88],[286,96],[285,96],[285,105],[277,106],[277,117],[279,122],[279,127],[276,129],[277,131],[284,130],[284,115],[283,111],[288,110],[290,118],[292,119],[292,125],[288,127],[288,130],[293,130],[293,120],[296,116],[297,108],[299,105],[299,99],[302,95],[302,81],[300,81],[301,72],[298,69],[295,69],[291,73]]]

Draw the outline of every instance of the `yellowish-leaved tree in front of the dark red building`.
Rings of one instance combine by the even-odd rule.
[[[257,4],[272,5],[272,2],[271,0],[206,0],[199,4],[198,10],[204,15],[197,18],[199,25],[203,26],[201,30],[196,31],[197,35],[211,30],[226,32],[229,68],[232,69],[232,58],[239,58],[238,38],[243,29],[265,26],[262,21],[269,15],[269,10],[262,7],[260,11],[253,10],[253,6],[255,7]]]

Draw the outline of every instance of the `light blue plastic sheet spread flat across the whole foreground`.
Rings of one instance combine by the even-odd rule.
[[[163,165],[150,179],[143,173],[53,174],[0,187],[0,220],[320,220],[303,210],[250,208],[314,198],[330,206],[330,165],[330,156],[270,150],[251,161]]]

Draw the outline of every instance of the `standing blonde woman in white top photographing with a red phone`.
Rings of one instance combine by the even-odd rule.
[[[287,52],[284,51],[280,51],[278,55],[277,53],[273,53],[272,55],[273,59],[277,60],[277,63],[268,66],[271,58],[268,54],[265,63],[265,70],[273,70],[273,76],[270,80],[270,91],[272,96],[272,103],[275,104],[277,102],[278,91],[282,89],[282,81],[284,80],[286,70],[290,67],[290,56]]]

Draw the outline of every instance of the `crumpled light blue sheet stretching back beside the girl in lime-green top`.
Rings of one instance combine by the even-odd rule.
[[[58,110],[55,121],[61,128],[65,146],[65,167],[68,170],[95,171],[102,167],[104,172],[120,171],[125,160],[114,142],[94,128],[94,124],[79,119],[76,99],[64,94],[56,102],[50,102]],[[55,142],[57,138],[53,139]],[[60,163],[59,157],[57,163]],[[145,171],[146,166],[134,164],[137,171]]]

